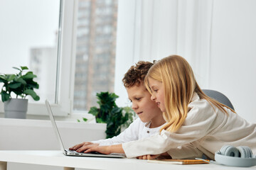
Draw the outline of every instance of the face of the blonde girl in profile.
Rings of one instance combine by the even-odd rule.
[[[156,102],[162,112],[166,112],[164,104],[164,84],[160,81],[149,78],[149,87],[152,91],[151,100]]]

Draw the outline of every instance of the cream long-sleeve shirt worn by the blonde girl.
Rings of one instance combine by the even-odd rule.
[[[228,108],[223,113],[195,93],[188,104],[188,115],[177,132],[160,134],[122,144],[127,157],[168,152],[173,158],[196,157],[203,153],[214,159],[223,145],[248,146],[256,153],[256,124],[248,123]],[[178,146],[183,148],[178,149]],[[195,153],[193,153],[195,152]]]

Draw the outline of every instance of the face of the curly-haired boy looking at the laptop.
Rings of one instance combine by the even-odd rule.
[[[144,84],[126,89],[129,100],[132,102],[132,109],[139,115],[142,122],[146,123],[162,116],[161,110],[157,107],[156,103],[151,101],[151,94],[146,90]]]

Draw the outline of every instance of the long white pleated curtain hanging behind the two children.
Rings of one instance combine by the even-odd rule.
[[[127,96],[121,79],[139,60],[181,55],[208,87],[212,11],[213,0],[119,1],[115,92],[122,102]]]

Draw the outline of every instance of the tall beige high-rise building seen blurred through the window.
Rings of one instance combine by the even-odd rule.
[[[79,0],[77,16],[73,110],[87,111],[114,91],[117,0]]]

